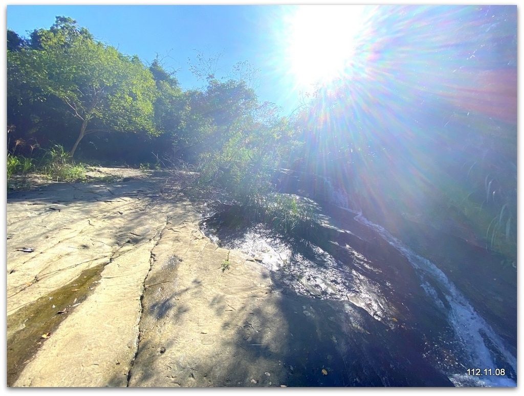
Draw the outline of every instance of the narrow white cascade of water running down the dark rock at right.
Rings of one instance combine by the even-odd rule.
[[[435,306],[444,311],[454,330],[455,340],[452,341],[458,343],[464,351],[463,356],[457,356],[457,358],[462,360],[466,367],[465,370],[479,368],[482,371],[491,369],[492,372],[495,372],[495,369],[505,369],[505,376],[475,377],[468,376],[464,372],[450,375],[450,380],[456,386],[516,387],[516,357],[508,352],[501,338],[445,274],[434,263],[414,253],[383,227],[366,219],[361,211],[350,209],[347,195],[341,188],[334,188],[329,178],[325,179],[325,188],[326,198],[330,203],[356,214],[355,220],[375,230],[386,242],[405,256],[417,270],[422,288],[429,297],[434,299]],[[430,285],[428,279],[431,279],[443,291],[445,303]]]

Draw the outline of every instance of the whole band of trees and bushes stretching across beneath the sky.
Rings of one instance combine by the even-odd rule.
[[[483,48],[495,46],[487,33],[483,40]],[[507,45],[492,50],[506,56]],[[255,70],[238,64],[219,78],[213,65],[199,54],[191,70],[203,87],[183,90],[161,59],[145,65],[71,18],[57,17],[28,38],[8,31],[8,184],[31,172],[82,180],[80,160],[191,167],[195,184],[223,190],[249,220],[283,234],[314,233],[314,208],[276,194],[275,172],[293,169],[331,180],[348,207],[377,222],[392,213],[416,218],[516,266],[513,123],[457,109],[456,98],[439,105],[428,92],[405,94],[407,84],[378,67],[362,78],[375,73],[381,85],[369,88],[355,76],[326,82],[282,117],[257,97]],[[387,92],[384,82],[392,85]],[[408,115],[400,115],[399,100]]]

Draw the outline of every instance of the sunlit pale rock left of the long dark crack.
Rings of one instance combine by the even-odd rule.
[[[196,219],[187,201],[156,197],[162,182],[166,177],[53,183],[8,196],[8,360],[24,350],[17,345],[24,332],[40,325],[32,323],[38,313],[31,307],[47,301],[55,315],[62,314],[60,324],[36,344],[36,353],[8,368],[10,386],[127,385],[151,250],[169,219]],[[79,293],[74,282],[96,267],[100,278],[88,296],[55,306],[62,297],[57,289],[70,285],[68,291]]]

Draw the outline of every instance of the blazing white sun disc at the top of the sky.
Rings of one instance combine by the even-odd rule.
[[[362,29],[363,8],[305,5],[287,16],[286,63],[298,90],[311,90],[344,73]]]

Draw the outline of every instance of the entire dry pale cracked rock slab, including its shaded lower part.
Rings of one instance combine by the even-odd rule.
[[[406,337],[350,302],[292,293],[204,236],[176,182],[135,176],[8,195],[9,387],[381,383],[391,368],[368,357],[371,337],[396,337],[392,361]],[[401,368],[400,384],[449,384]]]

